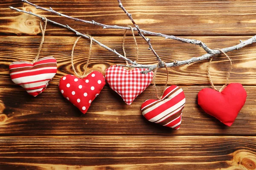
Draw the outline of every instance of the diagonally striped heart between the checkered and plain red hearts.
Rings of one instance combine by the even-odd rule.
[[[146,100],[141,105],[141,111],[150,122],[179,129],[185,101],[183,90],[177,85],[172,85],[166,88],[162,99]]]

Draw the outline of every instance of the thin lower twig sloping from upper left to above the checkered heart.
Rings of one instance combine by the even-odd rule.
[[[12,6],[10,6],[9,8],[14,9],[14,10],[16,10],[16,11],[18,11],[18,12],[24,12],[24,13],[26,13],[26,14],[31,14],[31,15],[34,15],[35,17],[41,18],[41,20],[45,20],[44,17],[41,17],[40,15],[34,14],[34,13],[32,13],[31,11],[29,11],[29,12],[28,12],[28,11],[23,11],[23,10],[20,10],[20,9],[17,9],[17,8],[13,8]],[[76,35],[78,35],[78,36],[82,36],[82,37],[84,37],[84,38],[90,39],[90,37],[88,37],[87,35],[81,34],[80,32],[76,31],[75,29],[71,28],[71,27],[68,26],[68,25],[65,26],[65,25],[62,25],[62,24],[57,23],[57,22],[55,22],[55,21],[49,20],[49,19],[47,19],[47,21],[50,22],[50,23],[53,23],[53,24],[55,24],[55,25],[57,25],[57,26],[61,26],[61,27],[67,28],[67,29],[73,31],[74,33],[76,33]],[[108,51],[113,52],[114,54],[116,54],[118,57],[124,59],[125,61],[127,61],[127,62],[129,62],[129,63],[131,63],[131,64],[133,64],[133,65],[137,65],[136,62],[133,62],[133,61],[131,61],[131,59],[128,59],[128,58],[122,56],[121,54],[119,54],[118,52],[116,52],[116,50],[109,48],[108,46],[106,46],[106,45],[102,44],[101,42],[95,40],[93,37],[92,37],[92,40],[93,40],[93,42],[96,42],[97,44],[99,44],[99,45],[102,46],[103,48],[106,48]]]

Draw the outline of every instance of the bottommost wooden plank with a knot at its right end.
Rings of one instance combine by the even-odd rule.
[[[256,137],[1,137],[0,168],[3,170],[255,170]]]

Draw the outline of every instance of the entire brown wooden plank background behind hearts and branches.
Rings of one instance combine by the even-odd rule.
[[[116,0],[31,0],[45,8],[109,25],[131,25]],[[196,40],[210,48],[224,48],[256,34],[256,1],[246,0],[123,0],[140,28]],[[207,115],[197,104],[197,94],[209,87],[208,61],[169,68],[168,85],[179,85],[186,95],[180,130],[148,122],[140,106],[155,99],[150,85],[132,105],[105,85],[86,115],[58,91],[58,81],[72,74],[70,53],[76,36],[48,24],[41,57],[53,56],[58,73],[37,97],[27,94],[9,77],[9,64],[32,61],[41,41],[39,20],[10,10],[13,6],[51,20],[69,24],[122,54],[123,30],[102,29],[37,10],[21,0],[0,3],[0,170],[256,170],[256,44],[228,53],[234,66],[230,82],[239,82],[247,101],[231,127]],[[147,44],[137,36],[139,63],[155,64]],[[200,47],[151,37],[165,62],[205,54]],[[135,59],[131,34],[127,57]],[[80,40],[75,65],[83,71],[89,49]],[[89,69],[105,74],[114,64],[124,64],[114,54],[93,44]],[[213,82],[224,84],[228,61],[216,56],[211,67]],[[159,69],[157,88],[163,89],[166,72]]]

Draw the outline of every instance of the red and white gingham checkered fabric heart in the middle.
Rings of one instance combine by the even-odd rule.
[[[127,105],[131,105],[134,99],[151,84],[153,72],[141,74],[140,72],[144,70],[143,68],[126,70],[113,65],[106,70],[105,77],[113,91],[116,91]]]

